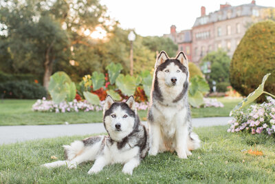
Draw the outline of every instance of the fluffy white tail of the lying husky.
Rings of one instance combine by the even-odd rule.
[[[85,149],[83,141],[74,141],[71,145],[63,145],[63,147],[68,161],[72,161],[72,159],[81,154]]]

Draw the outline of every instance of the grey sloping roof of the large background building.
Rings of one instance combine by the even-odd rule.
[[[236,17],[251,16],[254,9],[257,10],[261,8],[268,8],[268,7],[257,6],[256,4],[253,4],[253,3],[243,4],[241,6],[228,6],[221,10],[210,12],[210,14],[206,16],[197,17],[193,27],[196,27],[199,25],[205,25],[208,23],[214,23],[217,21],[224,21],[226,19],[234,19]],[[230,12],[230,17],[228,17],[228,12]]]

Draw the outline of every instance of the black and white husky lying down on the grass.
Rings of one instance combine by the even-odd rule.
[[[104,104],[104,127],[109,136],[91,136],[83,141],[74,141],[64,145],[66,161],[46,163],[45,167],[76,165],[85,161],[94,161],[88,174],[100,172],[105,165],[124,164],[122,172],[132,174],[149,150],[149,139],[146,128],[140,123],[135,109],[133,96],[123,102],[115,102],[107,96]]]

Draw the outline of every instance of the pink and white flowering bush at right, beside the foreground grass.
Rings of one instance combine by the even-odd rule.
[[[267,102],[250,105],[246,111],[236,110],[230,116],[234,119],[228,132],[249,132],[251,134],[275,133],[275,99],[267,97]]]

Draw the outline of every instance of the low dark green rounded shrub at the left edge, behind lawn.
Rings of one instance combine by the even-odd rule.
[[[8,81],[0,83],[0,94],[8,99],[41,99],[47,91],[38,83]]]

